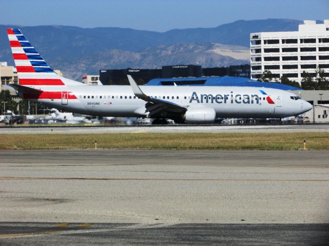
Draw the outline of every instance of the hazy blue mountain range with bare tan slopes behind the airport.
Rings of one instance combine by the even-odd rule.
[[[251,32],[297,31],[301,23],[295,19],[237,20],[214,28],[167,32],[0,25],[0,61],[13,65],[6,29],[19,28],[53,69],[77,80],[101,69],[239,65],[249,63]]]

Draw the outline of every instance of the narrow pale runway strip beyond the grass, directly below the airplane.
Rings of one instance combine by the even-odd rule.
[[[2,127],[0,134],[85,134],[85,133],[140,133],[140,132],[329,132],[329,124],[294,125],[167,125],[167,126],[92,126],[92,127]]]

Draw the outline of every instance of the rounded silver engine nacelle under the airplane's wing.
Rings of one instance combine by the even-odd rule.
[[[216,118],[216,112],[213,108],[188,108],[183,119],[188,124],[206,124],[213,123]]]

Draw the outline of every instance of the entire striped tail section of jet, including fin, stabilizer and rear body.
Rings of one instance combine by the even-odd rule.
[[[67,100],[78,100],[68,86],[85,86],[78,81],[59,76],[34,49],[19,29],[7,29],[20,85],[12,85],[25,99],[45,103],[53,101],[67,105]],[[63,104],[63,101],[66,103]]]

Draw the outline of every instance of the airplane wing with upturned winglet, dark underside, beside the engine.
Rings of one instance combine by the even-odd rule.
[[[144,92],[142,92],[142,90],[136,84],[136,81],[133,79],[133,77],[131,75],[127,75],[127,76],[135,96],[147,102],[147,104],[145,104],[145,108],[146,108],[145,112],[149,112],[148,117],[152,117],[152,115],[159,113],[162,110],[174,111],[174,112],[187,111],[188,108],[187,106],[178,105],[173,103],[172,101],[167,101],[144,94]]]

